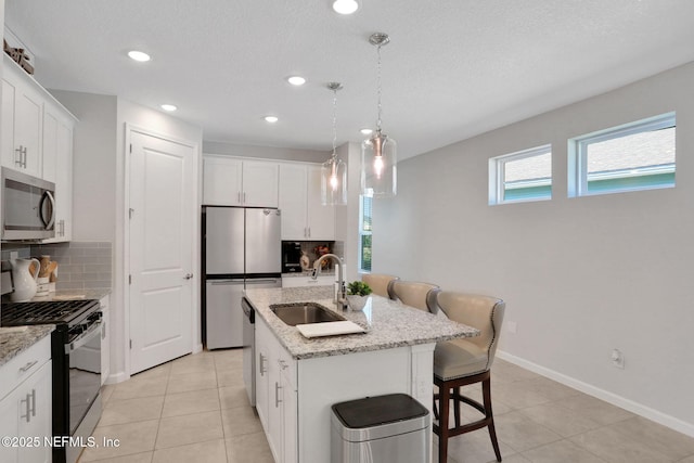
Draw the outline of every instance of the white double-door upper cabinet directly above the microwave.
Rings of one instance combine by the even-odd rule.
[[[2,54],[2,165],[41,177],[42,89]]]

